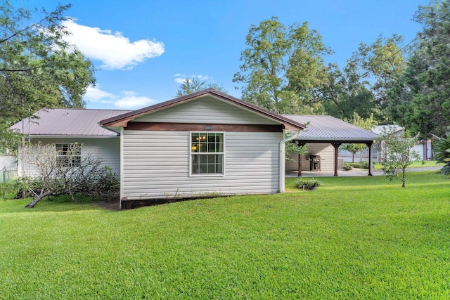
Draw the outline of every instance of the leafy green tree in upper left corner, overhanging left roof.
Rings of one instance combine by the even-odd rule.
[[[82,95],[95,83],[94,67],[63,39],[69,34],[61,25],[68,8],[28,11],[1,1],[0,140],[11,124],[41,108],[84,106]],[[35,15],[43,17],[32,22]]]

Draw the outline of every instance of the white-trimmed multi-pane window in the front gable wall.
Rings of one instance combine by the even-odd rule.
[[[224,133],[191,133],[191,174],[224,174]]]

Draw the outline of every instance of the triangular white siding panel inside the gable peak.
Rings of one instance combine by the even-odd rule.
[[[134,119],[135,122],[279,124],[217,98],[205,96]]]

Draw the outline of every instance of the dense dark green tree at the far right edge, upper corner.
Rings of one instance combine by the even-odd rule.
[[[423,30],[390,89],[387,114],[423,137],[442,136],[450,129],[450,2],[419,6],[413,20]]]

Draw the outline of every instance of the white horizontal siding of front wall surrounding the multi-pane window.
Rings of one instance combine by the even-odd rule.
[[[123,196],[140,200],[278,191],[282,133],[226,132],[223,176],[190,176],[189,134],[124,131]]]

